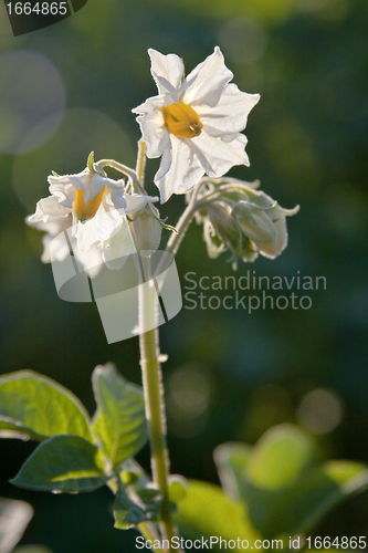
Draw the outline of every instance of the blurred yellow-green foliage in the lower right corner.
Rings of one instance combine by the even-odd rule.
[[[250,448],[224,444],[214,452],[228,495],[246,505],[263,538],[311,531],[327,511],[368,484],[365,466],[318,465],[309,437],[292,425],[267,430]]]

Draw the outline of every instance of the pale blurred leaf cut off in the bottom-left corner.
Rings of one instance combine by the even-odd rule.
[[[33,509],[24,501],[0,498],[0,551],[10,553],[22,538]]]

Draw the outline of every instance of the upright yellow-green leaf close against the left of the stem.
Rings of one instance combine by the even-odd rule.
[[[97,366],[92,375],[97,404],[94,430],[116,470],[147,441],[141,389],[127,383],[113,365]]]

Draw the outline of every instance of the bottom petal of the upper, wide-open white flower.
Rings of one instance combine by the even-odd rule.
[[[188,192],[204,174],[191,147],[191,139],[177,138],[174,135],[170,135],[170,138],[171,149],[164,152],[161,166],[155,176],[161,204],[172,194]]]

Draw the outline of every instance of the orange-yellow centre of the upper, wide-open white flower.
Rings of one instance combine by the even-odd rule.
[[[182,138],[193,138],[201,134],[203,124],[190,105],[180,102],[162,107],[162,112],[169,133]]]

